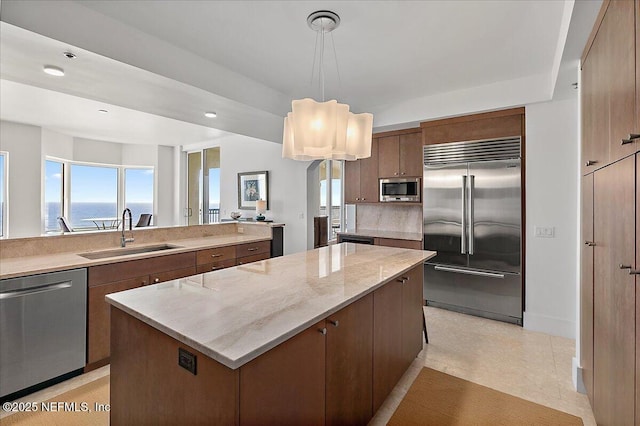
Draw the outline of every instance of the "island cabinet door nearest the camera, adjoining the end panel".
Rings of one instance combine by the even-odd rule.
[[[240,367],[241,425],[324,425],[325,321]]]

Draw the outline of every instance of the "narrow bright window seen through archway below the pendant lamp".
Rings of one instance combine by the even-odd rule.
[[[320,163],[320,215],[329,216],[329,240],[337,238],[342,226],[342,169],[342,161]]]

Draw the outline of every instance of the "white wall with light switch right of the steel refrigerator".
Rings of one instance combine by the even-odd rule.
[[[524,327],[576,337],[577,97],[526,106]],[[536,238],[534,227],[554,227]]]

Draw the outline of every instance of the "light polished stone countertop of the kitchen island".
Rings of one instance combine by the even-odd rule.
[[[236,369],[435,254],[342,243],[106,299]]]

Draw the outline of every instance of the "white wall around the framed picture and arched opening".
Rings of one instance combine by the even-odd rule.
[[[255,211],[238,209],[238,173],[267,170],[269,210],[265,216],[285,224],[285,254],[307,250],[307,168],[310,162],[283,159],[282,145],[248,136],[229,136],[208,146],[220,146],[222,218],[229,218],[232,211],[240,211],[244,217],[255,216]]]

